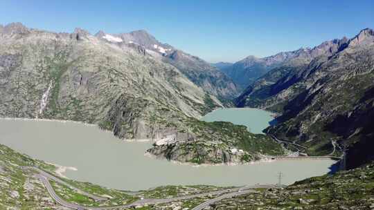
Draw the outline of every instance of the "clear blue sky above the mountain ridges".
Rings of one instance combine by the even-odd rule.
[[[374,28],[374,1],[0,1],[0,23],[91,33],[145,29],[207,61],[264,57]]]

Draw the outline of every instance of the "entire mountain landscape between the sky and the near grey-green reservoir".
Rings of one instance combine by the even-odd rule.
[[[264,135],[197,119],[224,106],[264,108],[278,113],[266,132],[301,144],[308,155],[347,149],[348,167],[374,160],[374,32],[368,28],[351,39],[235,64],[208,64],[145,30],[91,35],[10,23],[0,26],[0,46],[1,117],[95,123],[121,138],[168,140],[150,149],[154,155],[216,163],[282,151]],[[248,141],[250,148],[240,148]],[[231,153],[233,146],[244,153]]]

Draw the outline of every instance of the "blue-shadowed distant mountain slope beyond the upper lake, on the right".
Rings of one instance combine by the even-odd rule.
[[[258,78],[256,82],[250,84],[244,92],[235,99],[237,106],[251,106],[267,108],[274,106],[274,104],[281,104],[287,102],[288,92],[281,93],[282,90],[290,88],[292,84],[299,79],[308,76],[312,68],[317,68],[319,64],[326,61],[328,57],[339,52],[347,44],[348,39],[334,39],[332,41],[325,41],[319,46],[312,49],[301,48],[288,53],[278,53],[274,57],[267,57],[269,64],[272,64],[271,70],[268,73]],[[297,89],[297,88],[296,88]],[[298,93],[298,90],[294,90]],[[277,107],[274,107],[274,111]]]

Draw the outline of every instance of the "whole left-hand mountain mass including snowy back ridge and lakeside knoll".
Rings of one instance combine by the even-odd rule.
[[[123,139],[162,140],[150,152],[183,162],[249,162],[283,153],[243,126],[199,122],[215,108],[233,106],[237,86],[145,30],[91,35],[10,23],[0,26],[0,46],[0,117],[98,124]]]

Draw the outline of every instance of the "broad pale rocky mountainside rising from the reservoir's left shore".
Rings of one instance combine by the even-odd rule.
[[[1,30],[0,45],[2,117],[77,120],[118,137],[150,138],[220,106],[144,48],[108,43],[79,28],[66,34],[11,23]]]

